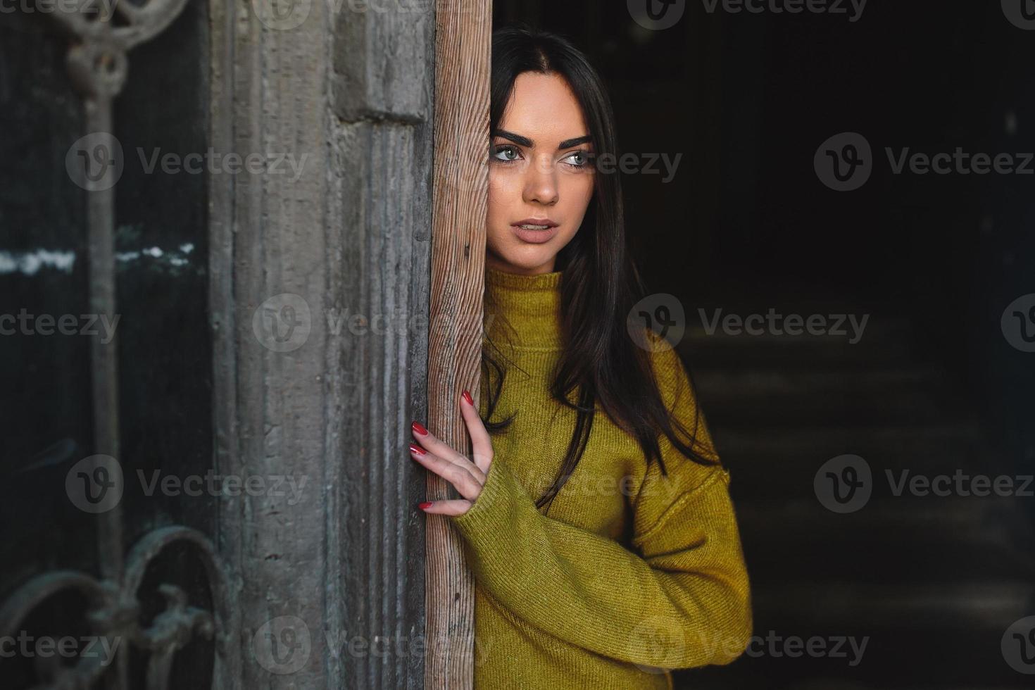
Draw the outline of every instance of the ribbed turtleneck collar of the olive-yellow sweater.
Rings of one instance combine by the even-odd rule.
[[[484,323],[493,342],[522,350],[563,347],[561,273],[523,275],[485,267],[485,293],[493,301],[485,304]]]

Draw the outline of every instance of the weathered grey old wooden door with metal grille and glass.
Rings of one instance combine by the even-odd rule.
[[[449,328],[428,378],[433,189],[466,271],[434,308],[480,306],[482,173],[448,163],[484,85],[440,73],[433,113],[436,18],[481,80],[489,3],[441,5],[0,5],[3,688],[469,683],[405,459],[470,385]]]

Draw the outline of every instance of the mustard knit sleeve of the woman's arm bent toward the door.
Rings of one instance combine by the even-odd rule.
[[[669,355],[675,362],[655,358],[659,383],[692,428],[685,372]],[[635,550],[539,513],[503,457],[451,520],[482,587],[555,637],[645,667],[726,664],[752,625],[730,473],[690,461],[663,436],[661,445],[669,476],[652,463],[634,498]]]

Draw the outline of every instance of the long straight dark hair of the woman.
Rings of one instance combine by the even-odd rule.
[[[611,99],[589,60],[566,38],[525,25],[509,25],[493,33],[491,132],[503,117],[518,76],[528,71],[556,73],[567,81],[593,138],[593,160],[603,154],[617,154]],[[555,270],[563,271],[560,291],[564,351],[554,370],[550,393],[561,404],[578,410],[575,428],[560,472],[536,500],[537,507],[553,502],[574,472],[589,441],[597,400],[616,425],[637,439],[648,466],[656,460],[662,474],[668,475],[668,470],[661,458],[659,432],[689,459],[701,464],[715,463],[696,449],[702,447],[697,438],[700,412],[694,415],[692,430],[672,416],[654,379],[649,353],[627,335],[625,314],[646,289],[626,246],[621,180],[613,171],[600,174],[598,170],[594,178],[593,199],[582,227],[558,252],[555,264]],[[489,291],[485,309],[486,313],[490,309],[496,312]],[[491,421],[506,374],[493,351],[499,354],[490,341],[481,354],[482,376],[489,384],[484,421],[491,433],[506,428],[514,419],[511,415]],[[576,402],[569,398],[573,391]],[[677,438],[675,429],[688,443]]]

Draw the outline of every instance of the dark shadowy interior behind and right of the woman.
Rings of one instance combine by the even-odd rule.
[[[1035,176],[894,175],[884,149],[1035,150],[1035,32],[998,2],[869,2],[854,23],[686,2],[652,31],[624,2],[498,0],[494,19],[590,56],[623,152],[683,154],[668,184],[625,176],[626,231],[651,290],[686,312],[678,347],[731,469],[756,635],[869,637],[855,666],[760,641],[677,687],[1030,687],[1000,643],[1035,613],[1035,500],[893,497],[884,471],[1035,468],[1035,355],[1000,327],[1035,292]],[[854,191],[814,169],[844,131],[875,158]],[[870,318],[857,344],[700,328],[699,308],[770,307]],[[875,488],[841,515],[812,479],[846,453]]]

